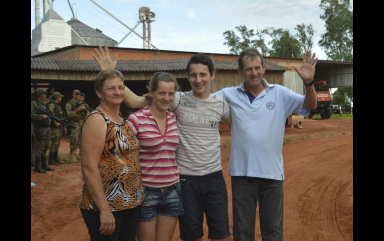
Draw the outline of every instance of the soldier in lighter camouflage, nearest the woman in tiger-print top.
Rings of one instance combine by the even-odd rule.
[[[79,142],[80,128],[83,124],[84,118],[88,115],[88,111],[84,105],[79,106],[76,104],[79,101],[80,90],[73,90],[72,97],[73,98],[65,105],[65,110],[67,112],[69,122],[76,126],[76,128],[71,129],[69,145],[71,149],[71,159],[72,161],[77,162],[76,151]]]

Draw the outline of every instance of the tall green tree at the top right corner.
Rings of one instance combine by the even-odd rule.
[[[321,0],[327,32],[321,35],[319,45],[327,57],[335,61],[353,61],[353,10],[350,0]]]

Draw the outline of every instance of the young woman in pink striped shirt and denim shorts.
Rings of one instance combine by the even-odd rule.
[[[178,217],[184,214],[176,164],[179,133],[176,116],[168,110],[179,85],[171,74],[158,72],[148,89],[152,104],[128,117],[140,143],[145,190],[137,238],[138,241],[170,241]]]

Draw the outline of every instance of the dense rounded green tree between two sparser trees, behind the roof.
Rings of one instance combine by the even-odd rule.
[[[302,52],[299,41],[289,34],[288,29],[268,28],[268,35],[272,38],[269,44],[271,57],[301,58]]]

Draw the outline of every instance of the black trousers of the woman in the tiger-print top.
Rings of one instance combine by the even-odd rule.
[[[100,212],[80,208],[83,219],[91,236],[91,241],[135,241],[136,227],[139,219],[140,206],[123,211],[112,212],[115,217],[115,231],[112,235],[101,235]]]

